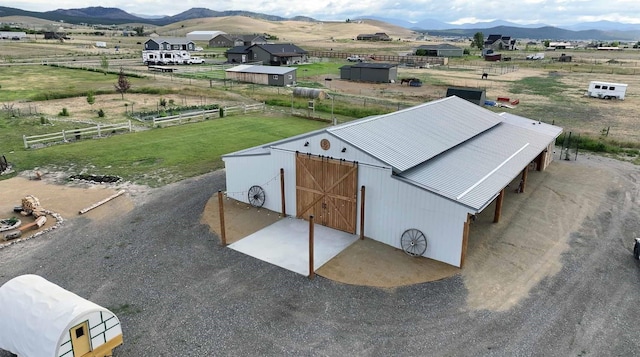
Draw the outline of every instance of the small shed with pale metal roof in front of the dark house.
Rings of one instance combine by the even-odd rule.
[[[296,67],[252,66],[241,64],[225,70],[227,79],[268,86],[296,83]]]

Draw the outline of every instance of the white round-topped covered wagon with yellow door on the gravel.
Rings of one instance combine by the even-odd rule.
[[[0,287],[0,349],[20,357],[106,357],[121,344],[111,311],[40,276]]]

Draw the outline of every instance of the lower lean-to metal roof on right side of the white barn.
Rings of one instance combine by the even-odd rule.
[[[398,176],[482,210],[562,132],[515,115],[504,117],[491,130]]]

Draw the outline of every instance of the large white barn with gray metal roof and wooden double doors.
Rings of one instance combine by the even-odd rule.
[[[452,96],[224,155],[227,195],[264,192],[277,212],[284,196],[287,213],[405,250],[424,240],[414,253],[461,267],[473,215],[496,200],[498,221],[505,187],[546,168],[561,132]]]

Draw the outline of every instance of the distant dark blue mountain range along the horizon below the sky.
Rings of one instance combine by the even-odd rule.
[[[0,17],[5,16],[29,16],[44,20],[64,21],[76,24],[122,25],[140,23],[156,26],[164,26],[191,19],[224,16],[247,16],[268,21],[318,21],[306,16],[285,18],[251,11],[214,11],[206,8],[191,8],[173,16],[145,16],[130,14],[118,8],[101,6],[80,9],[57,9],[46,12],[26,11],[0,6]],[[508,34],[516,38],[540,40],[636,41],[640,38],[640,25],[610,21],[579,23],[566,26],[566,28],[560,28],[544,24],[520,25],[501,20],[454,25],[434,19],[425,19],[415,23],[383,17],[367,17],[362,19],[382,21],[414,31],[426,32],[432,36],[473,37],[476,32],[483,32],[485,34]]]

